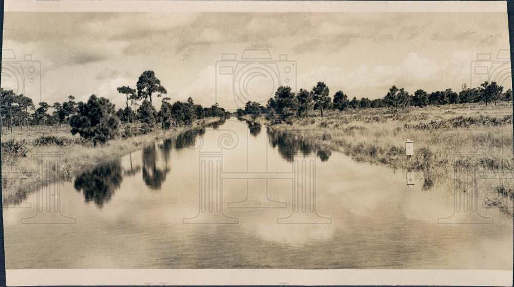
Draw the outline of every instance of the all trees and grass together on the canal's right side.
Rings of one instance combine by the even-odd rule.
[[[337,91],[332,103],[326,99],[328,87],[322,82],[297,94],[279,87],[266,107],[248,103],[237,116],[250,115],[250,126],[262,122],[254,111],[266,110],[270,143],[279,146],[286,160],[297,152],[315,152],[323,161],[331,151],[341,151],[357,161],[418,171],[425,189],[451,184],[456,170],[510,176],[514,171],[512,91],[503,93],[497,83],[463,85],[458,93],[418,89],[413,95],[393,86],[375,100],[348,100]],[[313,137],[318,137],[314,144]],[[415,143],[412,157],[405,156],[406,139]],[[284,149],[281,142],[299,143],[293,145],[296,149]],[[495,179],[480,188],[489,206],[512,214],[512,181]]]

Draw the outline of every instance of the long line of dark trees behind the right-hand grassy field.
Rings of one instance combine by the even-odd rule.
[[[277,89],[274,97],[270,98],[266,107],[256,102],[247,102],[245,108],[236,111],[241,117],[248,114],[255,119],[261,114],[266,114],[268,119],[286,120],[289,117],[305,117],[310,111],[318,110],[323,117],[323,111],[327,109],[344,111],[348,109],[380,108],[388,107],[393,110],[405,109],[409,106],[426,107],[429,105],[446,105],[461,103],[489,103],[498,101],[512,101],[512,90],[503,92],[503,87],[496,82],[484,82],[480,87],[469,88],[462,85],[460,92],[452,89],[428,93],[418,89],[410,94],[404,88],[392,86],[389,92],[379,99],[353,97],[352,100],[343,91],[334,93],[333,98],[329,95],[328,86],[324,82],[318,82],[310,91],[300,89],[298,93],[292,92],[290,87],[281,86]]]

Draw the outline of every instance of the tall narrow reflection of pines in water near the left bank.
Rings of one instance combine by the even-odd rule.
[[[157,150],[155,144],[143,148],[143,181],[146,186],[150,189],[159,190],[169,172],[170,168],[168,165],[165,165],[164,169],[157,168]]]

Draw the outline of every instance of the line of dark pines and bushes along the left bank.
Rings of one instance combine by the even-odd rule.
[[[125,127],[122,136],[129,137],[148,133],[155,128],[191,125],[195,120],[206,117],[225,119],[230,116],[217,103],[203,107],[195,104],[191,97],[186,102],[175,103],[170,103],[170,98],[163,98],[157,110],[152,103],[152,95],[161,97],[167,91],[150,70],[139,76],[135,89],[122,86],[117,90],[125,99],[125,108],[118,110],[111,101],[95,94],[85,103],[75,102],[75,97],[70,95],[68,101],[56,102],[52,106],[41,102],[35,108],[32,100],[25,95],[1,88],[0,127],[2,130],[7,127],[12,133],[13,126],[21,130],[23,126],[29,125],[55,125],[56,128],[62,128],[64,123],[69,125],[72,134],[79,133],[82,138],[96,145],[118,136],[122,125]],[[50,108],[53,109],[51,114],[48,113]],[[29,109],[33,112],[30,113]]]

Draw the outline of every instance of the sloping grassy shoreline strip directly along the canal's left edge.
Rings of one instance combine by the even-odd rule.
[[[220,121],[219,118],[197,120],[188,127],[157,129],[146,135],[116,138],[97,147],[72,144],[69,147],[33,147],[24,158],[12,164],[2,161],[2,204],[4,207],[20,204],[27,195],[56,181],[71,181],[84,170],[139,150],[144,145],[162,139],[173,138],[182,132],[205,127]],[[40,155],[38,157],[38,155]],[[43,160],[43,161],[42,161]],[[47,167],[42,169],[41,166]],[[44,173],[41,173],[44,170]]]

